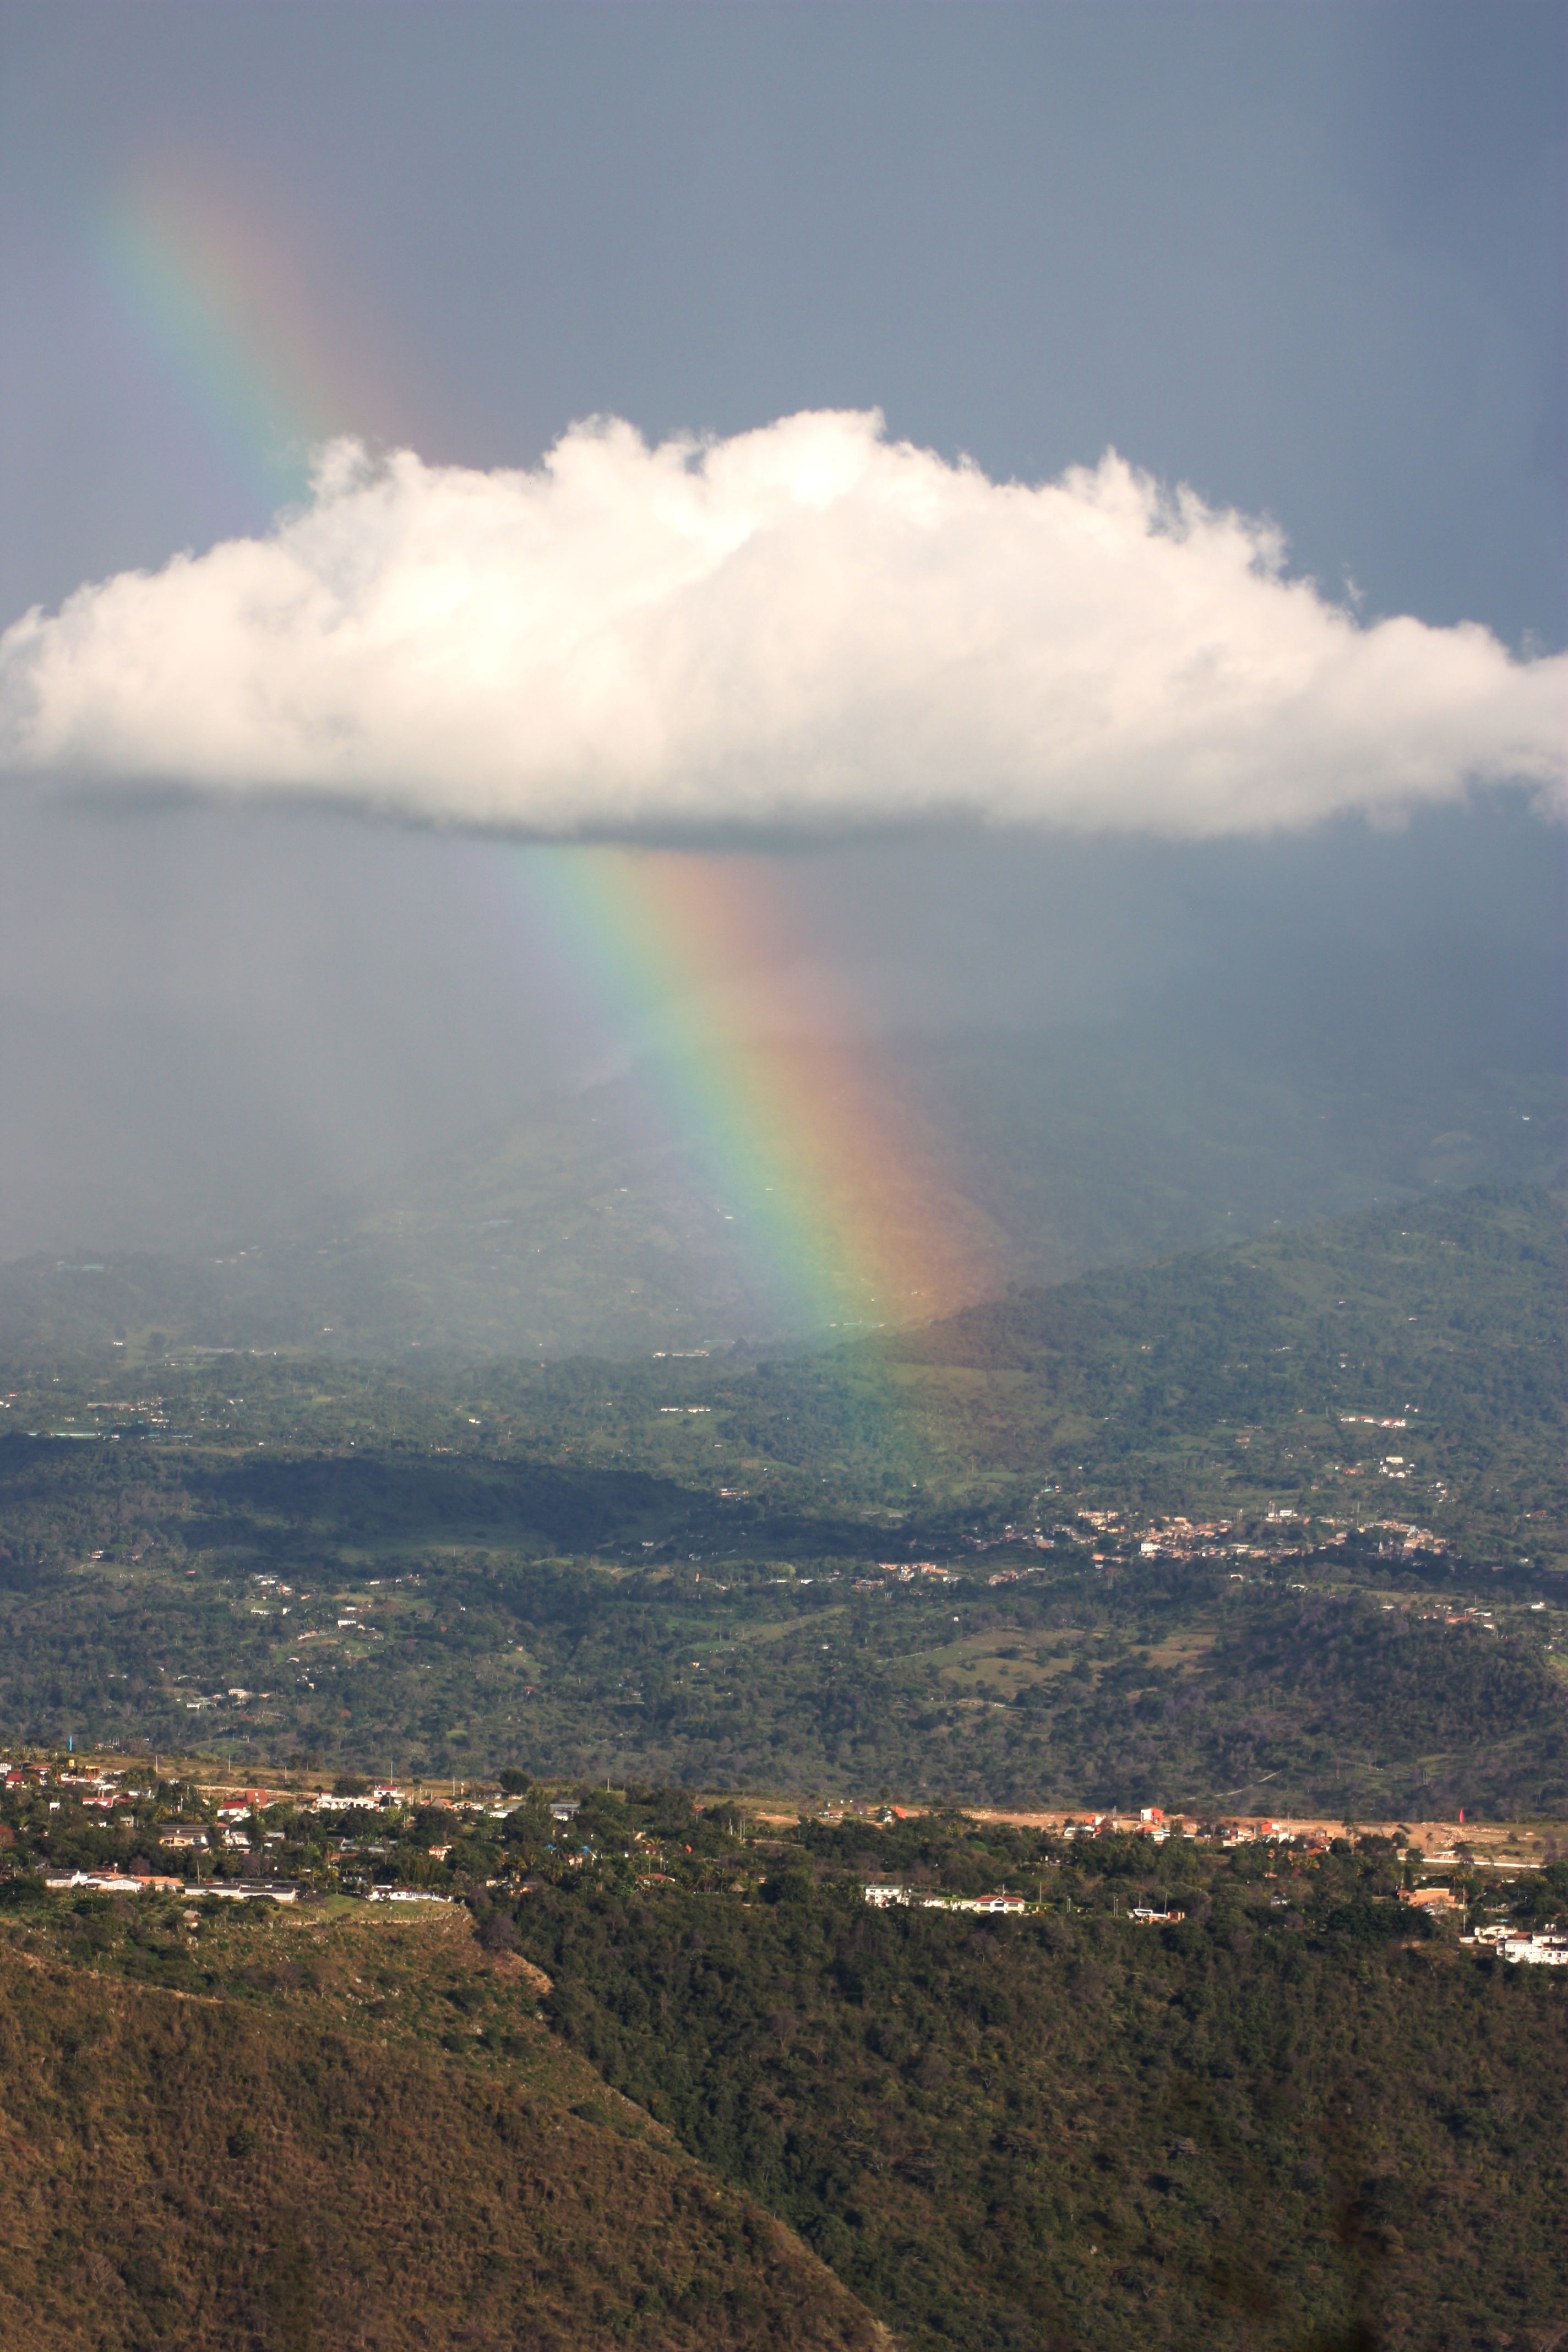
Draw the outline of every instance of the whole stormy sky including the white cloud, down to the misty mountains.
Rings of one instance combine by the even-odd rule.
[[[1495,969],[1476,1051],[1544,1035],[1566,49],[1514,0],[0,9],[0,1254],[303,1214],[658,990],[1255,993],[1373,877],[1382,955]],[[557,837],[745,854],[769,922],[682,957],[679,898],[607,990]]]

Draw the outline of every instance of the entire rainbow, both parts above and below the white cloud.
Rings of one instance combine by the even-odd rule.
[[[362,426],[287,252],[212,188],[125,193],[99,238],[108,287],[209,445],[270,515],[310,447]],[[990,1230],[940,1138],[849,1042],[853,1007],[802,1007],[809,861],[656,849],[484,847],[522,924],[597,1009],[701,1167],[769,1310],[790,1327],[924,1322],[992,1289]],[[832,988],[830,988],[832,995]]]

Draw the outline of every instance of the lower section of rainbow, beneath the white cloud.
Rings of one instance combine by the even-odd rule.
[[[940,1136],[802,1004],[797,863],[574,844],[505,851],[510,887],[741,1228],[790,1324],[924,1322],[987,1282],[990,1232]],[[842,983],[839,983],[842,997]]]

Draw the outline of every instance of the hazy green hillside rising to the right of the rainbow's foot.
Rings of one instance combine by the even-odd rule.
[[[947,1477],[1077,1458],[1124,1508],[1262,1489],[1568,1564],[1566,1284],[1549,1195],[1472,1192],[1091,1275],[889,1355]]]

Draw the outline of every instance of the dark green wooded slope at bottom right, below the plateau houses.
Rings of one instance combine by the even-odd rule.
[[[994,1877],[973,1844],[929,1849],[943,1884]],[[1072,1849],[997,1922],[778,1865],[750,1905],[527,1896],[522,1943],[571,2046],[907,2345],[1434,2352],[1561,2314],[1566,1987],[1413,1933],[1392,1856]]]

